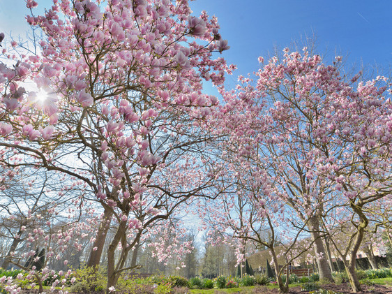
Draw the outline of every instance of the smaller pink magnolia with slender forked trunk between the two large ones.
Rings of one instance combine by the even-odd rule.
[[[225,142],[226,147],[233,145],[237,145],[237,142]],[[275,184],[269,182],[265,170],[250,161],[249,152],[246,155],[248,160],[243,159],[243,154],[223,154],[228,156],[225,165],[227,174],[231,172],[233,177],[231,180],[226,177],[225,182],[233,184],[232,189],[225,189],[222,197],[206,204],[204,219],[211,227],[211,232],[215,231],[220,235],[219,238],[212,235],[212,239],[232,244],[236,248],[237,264],[245,261],[247,243],[256,249],[268,249],[280,291],[287,293],[289,281],[286,279],[284,283],[282,274],[314,244],[306,240],[307,223],[292,217],[295,211],[279,197]]]

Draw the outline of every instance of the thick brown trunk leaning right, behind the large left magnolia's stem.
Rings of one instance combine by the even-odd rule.
[[[105,209],[103,213],[103,219],[98,228],[96,240],[93,243],[93,249],[91,249],[89,260],[87,261],[87,267],[98,267],[100,263],[100,257],[102,256],[103,247],[105,246],[105,240],[107,235],[107,230],[109,230],[110,221],[112,219],[112,210]]]

